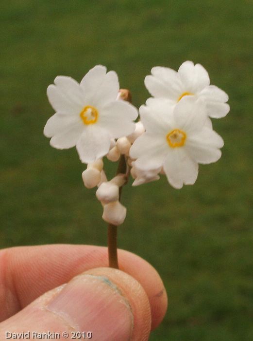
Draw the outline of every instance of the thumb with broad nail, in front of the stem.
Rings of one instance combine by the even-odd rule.
[[[0,340],[146,341],[150,329],[150,304],[142,286],[125,272],[104,267],[85,271],[0,323]]]

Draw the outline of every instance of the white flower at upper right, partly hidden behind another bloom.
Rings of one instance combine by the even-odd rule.
[[[215,85],[210,85],[207,71],[201,64],[184,62],[178,72],[166,67],[154,67],[146,76],[145,85],[153,97],[165,97],[176,104],[185,95],[202,98],[210,117],[224,117],[229,112],[228,95]]]

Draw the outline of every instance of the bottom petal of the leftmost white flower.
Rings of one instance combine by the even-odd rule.
[[[92,163],[110,149],[110,134],[100,127],[88,126],[77,141],[76,149],[83,163]]]

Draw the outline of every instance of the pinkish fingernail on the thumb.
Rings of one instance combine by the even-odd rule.
[[[129,341],[133,315],[117,286],[105,276],[84,274],[71,280],[47,309],[92,340]],[[90,335],[90,334],[89,334]]]

